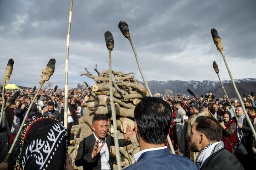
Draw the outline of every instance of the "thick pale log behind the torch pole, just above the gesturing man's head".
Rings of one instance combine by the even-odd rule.
[[[90,108],[94,111],[95,114],[111,114],[111,106],[98,106],[94,108]],[[134,109],[127,109],[123,107],[115,106],[116,115],[121,117],[134,118]]]

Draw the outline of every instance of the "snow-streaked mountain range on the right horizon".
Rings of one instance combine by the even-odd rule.
[[[234,80],[240,95],[245,94],[246,96],[251,94],[251,92],[256,92],[256,79],[254,78],[244,78]],[[180,80],[169,80],[169,81],[147,81],[151,92],[164,94],[165,89],[170,89],[173,91],[173,95],[177,93],[188,94],[187,89],[191,89],[197,96],[205,95],[209,91],[213,91],[217,98],[223,97],[224,92],[219,81],[180,81]],[[222,80],[223,86],[229,95],[229,98],[237,98],[233,84],[231,80]]]

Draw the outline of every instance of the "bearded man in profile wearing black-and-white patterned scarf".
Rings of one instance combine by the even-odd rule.
[[[222,126],[213,117],[200,116],[194,122],[190,150],[199,152],[196,165],[200,169],[243,170],[241,163],[233,154],[224,149]]]

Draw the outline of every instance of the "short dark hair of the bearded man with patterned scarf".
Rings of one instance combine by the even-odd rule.
[[[194,123],[197,123],[196,131],[204,134],[208,141],[221,141],[222,126],[218,120],[210,116],[199,116]]]

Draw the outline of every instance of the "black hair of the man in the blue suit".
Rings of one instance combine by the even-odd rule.
[[[172,110],[161,98],[145,97],[136,105],[134,119],[143,141],[162,144],[169,132]]]

